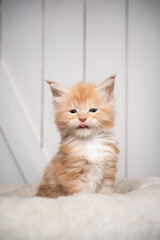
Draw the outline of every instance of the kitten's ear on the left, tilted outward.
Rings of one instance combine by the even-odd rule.
[[[52,91],[52,94],[53,94],[55,100],[56,100],[56,98],[62,97],[67,92],[67,89],[62,87],[57,82],[51,82],[51,81],[47,81],[47,80],[46,80],[46,82],[50,85],[51,91]]]

